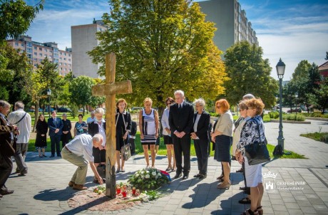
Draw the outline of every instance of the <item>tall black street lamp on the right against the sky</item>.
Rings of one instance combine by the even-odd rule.
[[[282,62],[282,59],[280,58],[280,61],[276,65],[276,69],[277,69],[277,75],[279,78],[279,93],[280,93],[278,145],[282,146],[282,154],[284,154],[284,141],[285,141],[284,135],[282,133],[282,78],[284,78],[285,68],[286,68],[286,65],[284,62]]]

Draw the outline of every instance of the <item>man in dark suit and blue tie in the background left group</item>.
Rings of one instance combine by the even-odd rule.
[[[51,141],[51,156],[55,157],[55,146],[57,157],[61,157],[61,150],[59,143],[61,142],[61,135],[63,134],[63,121],[60,117],[57,117],[57,112],[53,110],[51,112],[51,118],[48,119],[49,137]]]

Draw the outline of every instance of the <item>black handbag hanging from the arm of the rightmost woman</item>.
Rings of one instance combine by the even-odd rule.
[[[260,137],[260,125],[257,125],[257,128]],[[245,145],[245,156],[247,157],[249,165],[262,164],[270,161],[270,155],[265,141]]]

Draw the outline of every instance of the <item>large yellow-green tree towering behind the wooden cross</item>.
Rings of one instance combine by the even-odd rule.
[[[108,31],[97,33],[99,46],[88,54],[103,63],[106,53],[117,56],[116,80],[129,79],[130,103],[145,97],[165,108],[165,98],[182,89],[188,100],[223,93],[226,80],[222,53],[212,43],[214,24],[205,21],[198,3],[189,0],[111,0],[103,14]],[[104,66],[100,68],[104,75]]]

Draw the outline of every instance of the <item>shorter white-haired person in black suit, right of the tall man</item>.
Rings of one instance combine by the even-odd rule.
[[[210,127],[210,114],[204,110],[205,101],[203,98],[194,102],[197,112],[195,112],[193,132],[191,138],[194,140],[195,151],[198,162],[198,174],[195,178],[205,179],[207,177],[207,161],[208,161],[208,127]]]

